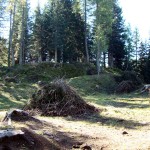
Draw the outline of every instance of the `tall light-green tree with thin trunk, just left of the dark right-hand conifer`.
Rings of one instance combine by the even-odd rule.
[[[108,47],[108,34],[111,33],[113,22],[113,0],[95,0],[96,4],[96,47],[97,47],[97,72],[102,71],[100,67],[102,52]]]

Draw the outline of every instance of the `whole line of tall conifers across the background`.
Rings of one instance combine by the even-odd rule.
[[[7,52],[9,67],[31,61],[94,62],[98,73],[105,67],[134,70],[150,82],[149,41],[142,42],[137,29],[132,33],[125,26],[117,0],[49,0],[44,8],[39,3],[34,15],[29,0],[0,0],[3,26],[4,15],[9,39],[0,39],[0,53],[6,60]]]

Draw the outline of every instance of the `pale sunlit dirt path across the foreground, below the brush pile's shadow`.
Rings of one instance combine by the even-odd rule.
[[[88,145],[92,150],[150,150],[150,125],[139,129],[124,129],[69,117],[36,118],[39,120],[13,121],[13,126],[16,129],[28,128],[48,140],[56,141],[60,150],[71,150],[78,144]]]

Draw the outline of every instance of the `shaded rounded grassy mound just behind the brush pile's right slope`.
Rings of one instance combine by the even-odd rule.
[[[100,92],[112,93],[117,85],[114,77],[110,74],[71,78],[69,84],[82,95],[93,95]]]

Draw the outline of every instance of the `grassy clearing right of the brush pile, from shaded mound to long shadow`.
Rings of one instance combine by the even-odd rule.
[[[102,76],[98,79],[96,76],[84,76],[70,79],[70,84],[86,101],[102,110],[100,114],[88,116],[85,121],[130,129],[147,127],[150,122],[150,98],[148,95],[108,94],[105,89],[107,85],[113,83],[113,80],[111,79],[111,82],[103,81],[104,78],[108,77]],[[114,87],[114,83],[110,87]],[[101,86],[100,90],[95,89],[97,84]]]

